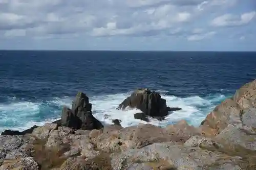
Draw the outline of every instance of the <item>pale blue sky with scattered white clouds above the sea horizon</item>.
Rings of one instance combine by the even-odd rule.
[[[0,49],[256,51],[256,0],[0,0]]]

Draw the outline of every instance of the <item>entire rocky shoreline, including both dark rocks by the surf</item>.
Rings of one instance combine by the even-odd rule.
[[[138,89],[117,109],[138,108],[136,118],[164,119],[180,108],[157,92]],[[103,126],[79,92],[61,119],[0,135],[0,170],[256,169],[256,80],[245,84],[207,115],[200,127],[185,120],[160,128]]]

